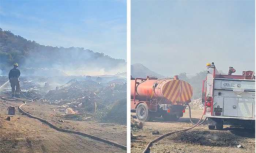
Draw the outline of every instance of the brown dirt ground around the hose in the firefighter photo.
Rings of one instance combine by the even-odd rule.
[[[1,95],[3,96],[3,95]],[[22,102],[0,100],[0,152],[1,153],[122,153],[124,150],[91,138],[59,132],[48,125],[19,113]],[[7,121],[7,107],[16,106],[16,115]],[[125,125],[95,121],[63,119],[56,106],[28,102],[23,110],[46,119],[63,129],[75,130],[105,138],[126,146]],[[63,122],[63,121],[64,122]]]

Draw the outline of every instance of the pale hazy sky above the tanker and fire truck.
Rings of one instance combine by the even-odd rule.
[[[255,70],[255,1],[131,1],[131,64],[195,75]]]

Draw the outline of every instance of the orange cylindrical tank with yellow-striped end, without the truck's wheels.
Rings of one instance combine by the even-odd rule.
[[[158,99],[164,104],[180,105],[183,102],[189,103],[192,95],[192,86],[179,80],[178,76],[164,79],[147,77],[146,79],[136,78],[131,80],[131,99],[134,100]]]

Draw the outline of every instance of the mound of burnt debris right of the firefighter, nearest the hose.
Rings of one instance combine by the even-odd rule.
[[[50,90],[42,99],[59,109],[71,108],[77,113],[91,113],[94,118],[126,122],[126,83],[102,84],[72,79]]]

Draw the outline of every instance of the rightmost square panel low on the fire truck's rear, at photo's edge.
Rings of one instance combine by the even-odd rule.
[[[252,117],[252,98],[238,98],[238,117]]]

